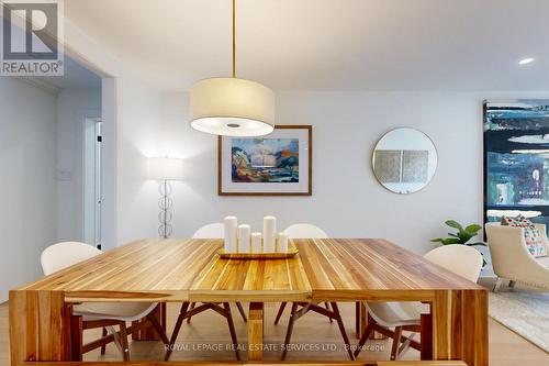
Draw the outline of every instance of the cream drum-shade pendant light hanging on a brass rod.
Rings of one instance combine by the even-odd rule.
[[[274,129],[274,93],[236,77],[235,0],[233,0],[233,77],[198,81],[190,92],[191,126],[224,136],[262,136]]]

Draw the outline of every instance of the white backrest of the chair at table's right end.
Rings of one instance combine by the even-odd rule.
[[[477,282],[482,269],[482,254],[462,244],[439,246],[427,253],[424,258],[473,282]]]

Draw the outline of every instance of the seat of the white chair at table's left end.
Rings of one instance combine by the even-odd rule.
[[[146,317],[157,302],[82,302],[75,306],[75,315],[83,320],[112,319],[132,322]]]

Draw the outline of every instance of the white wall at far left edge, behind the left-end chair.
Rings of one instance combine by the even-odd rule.
[[[56,236],[56,96],[0,78],[0,302],[42,274]]]

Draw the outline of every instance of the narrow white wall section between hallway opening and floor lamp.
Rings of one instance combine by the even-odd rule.
[[[148,156],[157,155],[160,93],[136,78],[119,79],[117,245],[157,236],[157,185],[146,181]]]

